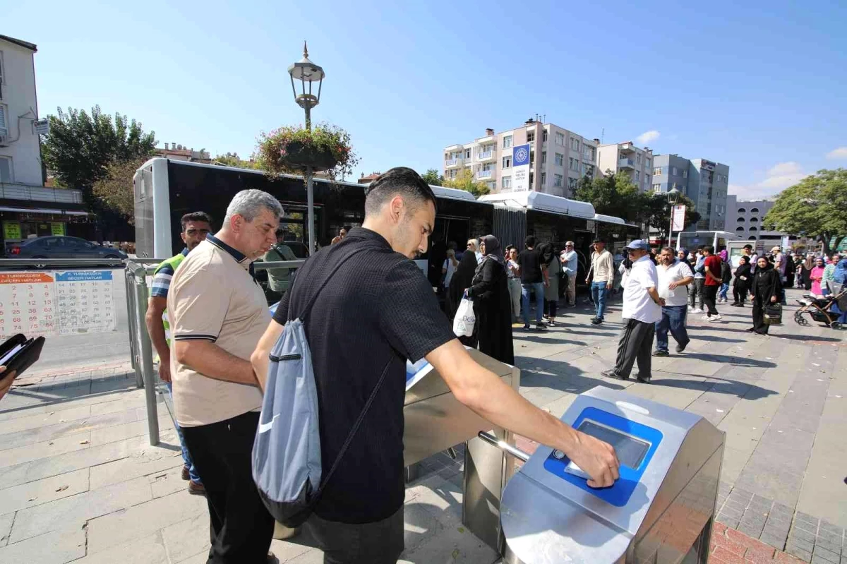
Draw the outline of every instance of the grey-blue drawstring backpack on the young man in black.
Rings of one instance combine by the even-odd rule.
[[[262,415],[253,442],[252,472],[265,507],[285,527],[299,527],[312,514],[324,486],[335,473],[388,373],[389,363],[386,363],[338,456],[324,476],[318,430],[318,390],[302,319],[307,317],[338,268],[363,250],[351,252],[335,265],[297,318],[292,319],[289,307],[285,328],[269,355]],[[293,287],[289,291],[292,290]]]

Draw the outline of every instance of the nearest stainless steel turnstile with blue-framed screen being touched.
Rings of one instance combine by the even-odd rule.
[[[564,453],[539,446],[502,494],[504,561],[705,564],[722,431],[601,386],[579,395],[562,421],[612,444],[621,478],[592,489]]]

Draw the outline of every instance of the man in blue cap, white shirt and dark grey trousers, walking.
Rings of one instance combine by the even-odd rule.
[[[656,334],[656,322],[662,319],[664,298],[659,296],[656,265],[650,260],[650,245],[636,239],[624,249],[633,267],[623,281],[623,333],[617,345],[617,362],[603,376],[629,379],[633,364],[638,362],[639,382],[650,382],[650,348]]]

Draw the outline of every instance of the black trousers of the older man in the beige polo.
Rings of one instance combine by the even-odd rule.
[[[185,445],[206,486],[212,546],[207,564],[264,564],[274,517],[259,498],[252,476],[259,412],[218,423],[183,427]]]

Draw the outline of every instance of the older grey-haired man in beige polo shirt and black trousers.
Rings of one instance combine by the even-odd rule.
[[[270,322],[249,266],[276,242],[282,206],[245,190],[176,269],[168,294],[174,411],[206,486],[210,564],[268,560],[274,519],[259,498],[251,452],[262,393],[250,355]]]

